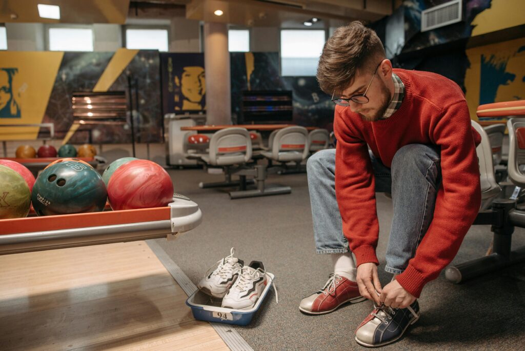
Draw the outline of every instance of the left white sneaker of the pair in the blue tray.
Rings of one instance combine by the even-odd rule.
[[[206,272],[197,284],[200,291],[214,297],[223,297],[228,292],[244,265],[242,260],[233,256],[234,253],[235,247],[232,247],[229,256],[217,261],[217,267],[213,266]]]

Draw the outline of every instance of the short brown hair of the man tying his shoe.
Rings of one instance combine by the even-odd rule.
[[[373,66],[373,70],[379,63],[373,60],[376,57],[385,58],[385,49],[372,29],[359,21],[337,28],[319,58],[317,80],[321,90],[330,95],[340,93],[352,84],[357,69]]]

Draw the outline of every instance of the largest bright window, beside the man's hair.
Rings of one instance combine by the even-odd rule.
[[[315,76],[324,30],[281,30],[281,75]]]

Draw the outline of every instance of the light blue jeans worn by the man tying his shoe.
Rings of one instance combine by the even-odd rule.
[[[385,271],[401,274],[434,216],[441,179],[440,152],[433,145],[408,144],[396,152],[392,168],[372,152],[370,158],[375,191],[392,194],[394,211]],[[349,252],[335,198],[335,149],[314,153],[308,159],[307,172],[317,253]]]

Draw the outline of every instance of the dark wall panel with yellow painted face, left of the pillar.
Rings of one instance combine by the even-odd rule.
[[[163,114],[204,111],[204,54],[162,53]]]

